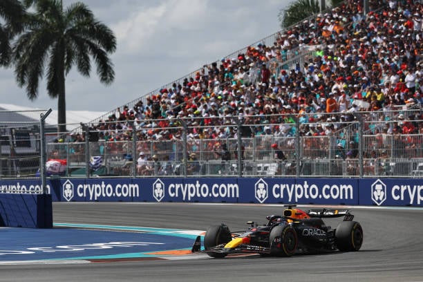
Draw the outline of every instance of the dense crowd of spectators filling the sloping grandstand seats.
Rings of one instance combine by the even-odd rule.
[[[236,131],[220,126],[236,124],[240,117],[243,124],[259,125],[246,135],[284,136],[292,131],[280,124],[290,120],[273,115],[293,114],[303,124],[323,124],[306,126],[303,134],[325,135],[333,130],[330,126],[354,119],[350,113],[355,111],[420,106],[423,5],[369,1],[367,15],[362,1],[347,0],[279,32],[271,46],[249,46],[237,57],[206,65],[181,84],[160,89],[147,102],[118,108],[91,130],[100,140],[131,140],[133,126],[138,140],[180,139],[182,126],[176,119],[185,118],[194,138],[234,138]],[[312,56],[294,68],[281,67],[292,50],[311,50]],[[382,133],[423,133],[417,113],[393,117],[398,122]]]

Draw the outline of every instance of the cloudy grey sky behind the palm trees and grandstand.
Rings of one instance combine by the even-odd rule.
[[[64,7],[76,0],[63,0]],[[66,77],[66,110],[113,111],[280,30],[278,13],[289,0],[82,0],[118,41],[110,57],[114,82],[100,83],[75,68]],[[30,101],[12,68],[0,68],[0,103],[57,110],[46,93]]]

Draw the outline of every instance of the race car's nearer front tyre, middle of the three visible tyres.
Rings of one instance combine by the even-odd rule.
[[[278,225],[270,231],[269,242],[272,256],[292,256],[297,251],[297,232],[290,225]]]

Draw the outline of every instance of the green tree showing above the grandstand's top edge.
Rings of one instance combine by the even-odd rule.
[[[338,6],[342,0],[332,0],[330,7]],[[323,8],[325,10],[325,8]],[[297,0],[288,6],[288,8],[279,10],[278,19],[281,28],[288,28],[303,19],[320,12],[320,0]]]

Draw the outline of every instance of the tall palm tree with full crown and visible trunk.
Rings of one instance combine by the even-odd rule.
[[[35,100],[46,71],[48,95],[58,100],[58,130],[65,132],[66,75],[76,65],[79,73],[89,77],[92,58],[100,82],[111,84],[115,71],[109,54],[116,50],[116,38],[84,3],[64,10],[62,1],[26,1],[32,2],[35,12],[28,12],[27,26],[13,48],[17,83],[26,87],[29,100]]]

